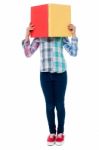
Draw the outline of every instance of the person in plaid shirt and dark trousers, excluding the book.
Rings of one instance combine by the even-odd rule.
[[[30,32],[35,26],[30,24],[26,29],[25,39],[22,41],[25,55],[30,57],[40,47],[40,83],[46,103],[46,115],[49,126],[48,145],[62,145],[64,142],[65,122],[65,91],[67,85],[66,62],[63,47],[71,56],[77,55],[76,27],[68,26],[71,40],[68,37],[34,38],[30,44]],[[55,108],[57,111],[58,127],[55,124]]]

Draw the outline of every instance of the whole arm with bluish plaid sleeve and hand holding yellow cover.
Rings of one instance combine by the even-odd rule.
[[[68,26],[68,30],[72,34],[71,41],[68,38],[63,38],[63,46],[71,56],[77,55],[78,38],[76,37],[76,27],[73,24]]]

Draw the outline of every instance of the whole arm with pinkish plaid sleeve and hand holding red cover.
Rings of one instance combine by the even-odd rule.
[[[24,52],[27,57],[30,57],[40,45],[39,38],[34,38],[32,43],[30,44],[30,40],[29,40],[30,32],[33,31],[34,29],[35,26],[30,23],[26,29],[25,39],[22,41],[22,46],[24,48]]]

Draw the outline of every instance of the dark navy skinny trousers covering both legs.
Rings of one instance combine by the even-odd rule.
[[[65,122],[65,91],[67,85],[67,72],[50,73],[40,72],[40,82],[46,102],[46,114],[50,133],[56,133],[55,107],[57,110],[57,133],[64,132]]]

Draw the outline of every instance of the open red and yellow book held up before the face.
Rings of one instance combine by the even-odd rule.
[[[71,36],[67,28],[71,23],[71,6],[63,4],[32,6],[31,23],[35,25],[31,37]]]

